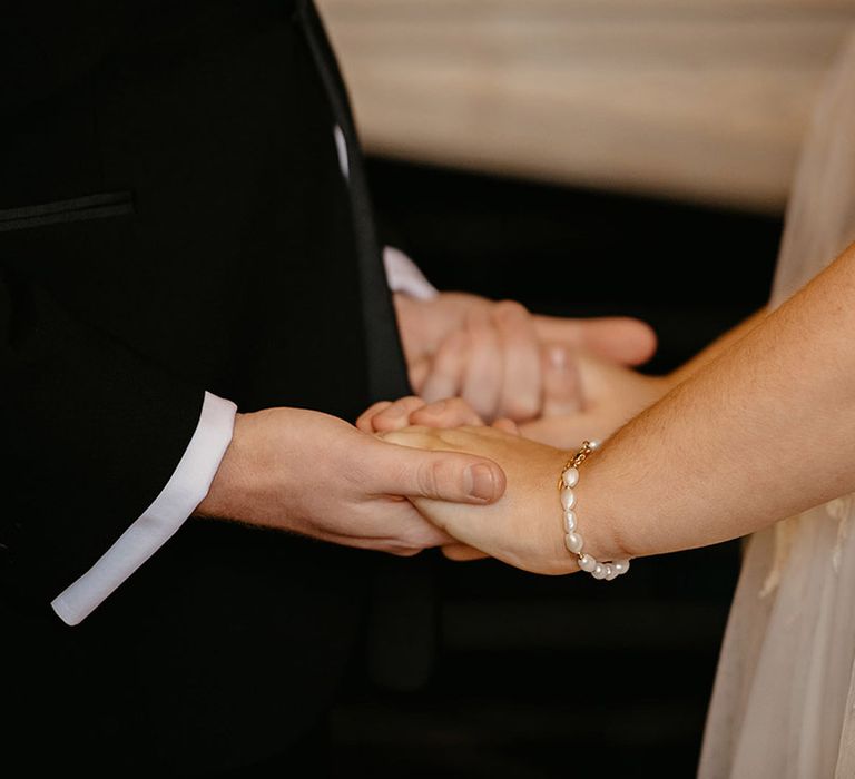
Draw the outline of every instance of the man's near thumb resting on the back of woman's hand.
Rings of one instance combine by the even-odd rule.
[[[504,494],[504,471],[492,460],[376,443],[382,451],[371,464],[372,492],[475,504],[492,503]]]

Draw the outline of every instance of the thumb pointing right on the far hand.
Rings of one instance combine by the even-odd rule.
[[[641,365],[656,352],[652,327],[628,316],[591,319],[535,316],[534,327],[541,342],[587,349],[623,365]]]

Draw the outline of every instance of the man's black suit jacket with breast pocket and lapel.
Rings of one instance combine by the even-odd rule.
[[[157,496],[205,389],[351,420],[407,391],[323,29],[301,0],[20,3],[0,112],[4,752],[262,759],[328,706],[373,555],[190,520],[80,627],[48,604]]]

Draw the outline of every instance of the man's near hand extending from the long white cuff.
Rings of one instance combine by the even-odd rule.
[[[395,446],[334,416],[268,408],[237,416],[195,513],[409,555],[453,539],[407,499],[487,504],[504,484],[484,457]]]

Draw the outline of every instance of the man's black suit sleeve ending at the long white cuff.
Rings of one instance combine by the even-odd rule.
[[[47,609],[153,504],[205,393],[0,273],[3,578]]]

